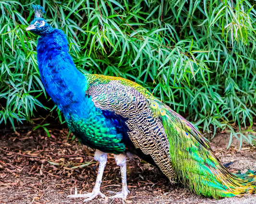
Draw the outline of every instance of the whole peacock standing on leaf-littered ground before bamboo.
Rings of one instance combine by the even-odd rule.
[[[119,77],[83,74],[76,69],[67,37],[42,18],[26,28],[40,35],[37,62],[41,80],[66,124],[82,144],[95,149],[98,176],[92,193],[69,195],[86,201],[100,195],[100,184],[113,153],[120,166],[122,191],[109,198],[126,199],[126,155],[155,165],[172,184],[182,182],[192,192],[215,199],[256,193],[256,171],[229,172],[195,127],[141,85]]]

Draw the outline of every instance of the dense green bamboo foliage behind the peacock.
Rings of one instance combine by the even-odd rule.
[[[0,123],[29,120],[47,94],[37,36],[25,32],[32,4],[68,36],[84,73],[143,85],[195,125],[244,134],[256,114],[256,10],[249,0],[0,1]],[[240,131],[233,130],[236,123]],[[252,131],[248,129],[248,131]],[[230,145],[229,144],[229,145]],[[242,144],[242,143],[241,143]]]

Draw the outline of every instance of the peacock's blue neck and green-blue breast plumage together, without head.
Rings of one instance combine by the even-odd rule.
[[[122,134],[117,133],[112,118],[106,117],[85,94],[87,80],[75,68],[68,53],[66,36],[61,30],[54,29],[38,39],[37,61],[46,91],[80,141],[104,152],[124,151]]]

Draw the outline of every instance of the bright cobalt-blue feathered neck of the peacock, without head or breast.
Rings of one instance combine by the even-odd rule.
[[[41,80],[64,115],[79,106],[87,89],[87,80],[75,68],[68,51],[67,37],[59,29],[38,39],[37,62]]]

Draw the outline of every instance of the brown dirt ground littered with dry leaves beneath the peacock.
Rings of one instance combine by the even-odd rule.
[[[94,152],[72,141],[72,134],[63,126],[49,126],[51,137],[43,129],[33,131],[33,126],[24,126],[13,132],[0,129],[0,203],[6,204],[82,204],[83,199],[67,198],[74,193],[91,192],[95,184],[98,163]],[[67,138],[68,137],[68,138]],[[234,161],[230,171],[248,168],[256,170],[256,148],[239,143],[226,149],[229,136],[219,133],[210,143],[223,163]],[[81,166],[82,165],[82,166]],[[81,167],[79,167],[81,166]],[[256,204],[256,195],[209,199],[190,193],[182,186],[171,186],[158,170],[145,161],[134,157],[127,161],[127,184],[131,193],[126,203],[136,204]],[[120,169],[112,155],[108,155],[102,193],[121,190]],[[91,204],[102,204],[97,197]],[[109,204],[122,203],[112,199]]]

